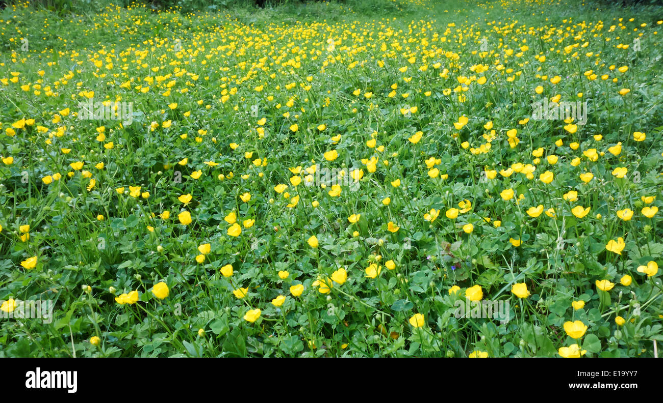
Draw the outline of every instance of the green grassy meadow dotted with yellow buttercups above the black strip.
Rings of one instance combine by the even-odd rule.
[[[0,9],[0,357],[660,354],[663,5],[178,4]]]

